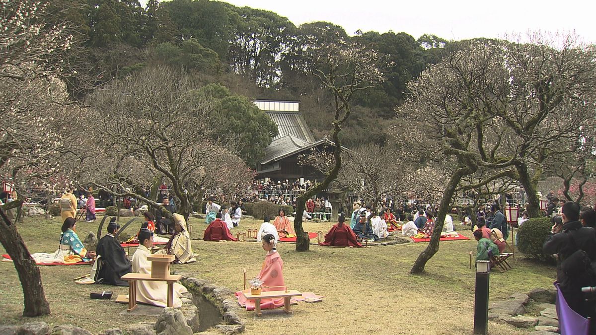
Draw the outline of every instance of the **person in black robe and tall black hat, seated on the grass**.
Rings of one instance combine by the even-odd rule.
[[[98,263],[94,278],[97,284],[128,286],[128,282],[120,279],[120,277],[131,272],[132,266],[126,258],[124,248],[114,238],[119,229],[120,226],[116,222],[116,217],[111,218],[110,224],[108,224],[108,233],[97,244]]]

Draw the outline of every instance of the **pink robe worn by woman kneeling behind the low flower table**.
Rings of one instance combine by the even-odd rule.
[[[259,279],[264,281],[262,284],[263,291],[282,291],[285,290],[284,275],[282,273],[284,268],[284,261],[281,260],[280,254],[276,252],[269,253],[265,256],[265,261],[259,274]],[[243,291],[237,291],[238,303],[240,306],[246,305],[247,311],[254,310],[254,300],[247,300],[242,294]],[[250,289],[244,290],[250,292]],[[261,309],[275,309],[284,305],[284,298],[279,299],[262,299]]]

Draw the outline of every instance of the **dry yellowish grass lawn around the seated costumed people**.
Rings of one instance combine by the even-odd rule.
[[[54,252],[58,247],[59,218],[27,218],[18,230],[31,253]],[[122,219],[121,221],[124,221]],[[204,220],[191,219],[193,238],[202,237]],[[138,229],[128,228],[130,234]],[[139,222],[140,225],[140,222]],[[258,228],[260,221],[244,219],[240,228]],[[97,232],[98,222],[77,222],[83,240],[89,231]],[[132,225],[131,225],[132,227]],[[305,224],[306,231],[324,231],[329,222]],[[130,229],[130,230],[129,230]],[[294,244],[279,243],[284,260],[285,283],[290,289],[312,291],[324,296],[321,303],[293,306],[291,318],[257,319],[244,311],[247,334],[471,334],[473,328],[474,270],[469,269],[468,252],[476,250],[469,228],[458,225],[460,233],[471,240],[446,241],[426,266],[426,274],[410,275],[414,260],[426,243],[375,246],[368,249],[340,249],[311,245],[310,252],[297,253]],[[260,270],[265,252],[254,242],[193,241],[197,262],[173,266],[176,271],[240,290],[242,268],[252,278]],[[0,247],[0,252],[5,253]],[[134,249],[131,249],[131,253]],[[93,333],[111,327],[148,320],[147,317],[120,315],[125,305],[114,300],[91,300],[89,292],[111,290],[128,293],[127,287],[76,285],[73,278],[88,274],[91,266],[41,266],[42,280],[52,314],[26,319],[23,293],[17,273],[10,262],[0,263],[0,324],[45,321],[49,324],[75,324]],[[491,301],[535,287],[552,287],[555,269],[517,255],[514,269],[491,273]],[[492,334],[525,334],[508,325],[489,322]]]

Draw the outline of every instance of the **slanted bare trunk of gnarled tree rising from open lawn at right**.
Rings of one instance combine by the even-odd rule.
[[[445,216],[449,210],[449,205],[451,204],[455,189],[457,188],[457,185],[460,184],[463,175],[464,172],[462,172],[462,170],[457,170],[454,175],[451,176],[449,184],[447,184],[447,187],[445,188],[445,193],[443,193],[443,198],[441,199],[439,214],[435,218],[436,221],[434,221],[434,229],[433,234],[430,236],[430,243],[426,249],[418,255],[418,258],[414,262],[414,266],[412,266],[412,269],[410,270],[411,274],[420,274],[424,272],[426,263],[439,251],[439,240],[441,232],[443,231],[443,225],[445,225]]]

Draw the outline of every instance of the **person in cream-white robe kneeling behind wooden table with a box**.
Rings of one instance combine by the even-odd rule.
[[[153,244],[153,234],[149,229],[141,228],[139,231],[139,246],[132,255],[132,272],[140,274],[151,274],[151,262],[147,259],[151,256],[149,248]],[[186,287],[181,284],[174,284],[173,307],[182,306],[182,293],[187,293]],[[167,284],[163,281],[137,281],[136,302],[147,303],[159,307],[167,306]]]

